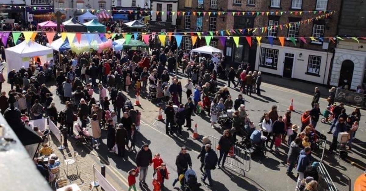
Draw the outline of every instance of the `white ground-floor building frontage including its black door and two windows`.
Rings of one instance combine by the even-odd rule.
[[[262,43],[257,47],[255,70],[281,77],[327,84],[332,56],[332,53],[326,51]]]

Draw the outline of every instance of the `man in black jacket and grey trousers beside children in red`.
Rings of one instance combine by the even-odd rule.
[[[151,150],[149,149],[148,144],[142,145],[141,149],[137,152],[136,155],[136,166],[140,169],[140,177],[139,177],[139,186],[142,187],[148,187],[145,180],[147,176],[147,169],[149,168],[149,165],[153,163],[153,154],[151,153]]]

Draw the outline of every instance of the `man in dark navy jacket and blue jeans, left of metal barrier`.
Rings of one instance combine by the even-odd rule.
[[[214,170],[216,168],[217,163],[217,154],[214,152],[214,150],[211,148],[210,144],[205,145],[205,175],[201,177],[202,182],[204,183],[206,178],[208,179],[209,185],[207,188],[211,189],[213,186],[212,177],[211,177],[211,170]]]

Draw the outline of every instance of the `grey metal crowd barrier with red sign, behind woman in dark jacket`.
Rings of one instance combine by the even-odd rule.
[[[219,139],[212,136],[208,137],[209,140],[211,141],[212,149],[215,150],[217,157],[219,157],[220,151],[216,149],[217,145],[219,145]],[[238,168],[240,170],[238,175],[241,176],[241,173],[243,172],[243,176],[245,176],[245,172],[249,172],[250,170],[250,162],[251,162],[250,152],[237,146],[234,146],[234,149],[229,152],[226,158],[225,166],[228,166],[234,170]]]

